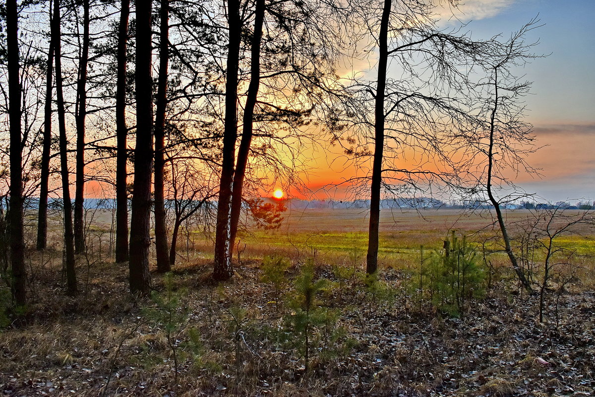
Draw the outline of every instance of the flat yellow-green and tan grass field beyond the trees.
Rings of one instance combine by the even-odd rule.
[[[571,214],[578,211],[568,211]],[[93,234],[93,248],[102,249],[110,245],[112,212],[106,210],[89,211]],[[493,213],[489,211],[471,212],[462,210],[399,210],[384,209],[380,212],[380,249],[378,263],[386,268],[417,268],[420,248],[424,251],[441,249],[443,240],[453,231],[458,236],[481,245],[487,244],[490,251],[502,249],[500,231],[494,227]],[[368,210],[356,208],[289,210],[279,229],[264,230],[250,227],[239,232],[234,248],[241,251],[241,260],[262,260],[265,255],[284,255],[300,261],[315,257],[324,264],[357,265],[363,267],[368,247]],[[512,237],[518,236],[519,227],[515,224],[531,218],[532,212],[515,210],[505,212],[506,221],[511,224]],[[61,246],[61,219],[55,214],[51,223],[50,242]],[[35,228],[30,229],[34,239]],[[579,233],[557,237],[556,244],[577,252],[577,262],[587,273],[594,273],[595,230],[583,227]],[[113,236],[111,237],[113,239]],[[212,260],[214,242],[212,236],[202,231],[192,230],[180,233],[178,239],[179,264],[209,262]],[[151,246],[154,250],[154,245]],[[109,254],[106,254],[109,255]],[[508,259],[501,252],[491,254],[494,264],[506,263]],[[595,273],[594,277],[595,279]]]

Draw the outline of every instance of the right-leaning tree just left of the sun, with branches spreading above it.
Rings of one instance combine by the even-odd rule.
[[[297,179],[299,167],[295,164],[299,156],[289,148],[296,148],[302,140],[317,142],[315,135],[306,132],[306,126],[320,123],[328,96],[337,95],[333,90],[338,80],[334,68],[342,37],[336,31],[334,11],[317,0],[268,4],[257,0],[250,12],[243,12],[253,17],[253,29],[246,35],[249,84],[233,176],[231,246],[242,205],[250,201],[250,188],[256,190],[249,185],[256,182],[253,176],[258,168],[267,168],[275,183],[281,179],[290,185]],[[245,24],[248,30],[248,23]],[[284,149],[289,155],[278,155],[277,151]],[[287,157],[294,164],[284,167],[280,157]],[[262,182],[256,183],[262,188]]]

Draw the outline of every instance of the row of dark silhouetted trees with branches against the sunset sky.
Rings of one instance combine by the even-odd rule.
[[[499,192],[511,186],[509,169],[532,171],[522,103],[530,83],[513,70],[537,57],[527,42],[537,20],[475,39],[445,26],[439,14],[449,8],[433,0],[7,0],[3,11],[16,304],[26,304],[25,198],[39,196],[38,250],[48,198],[62,198],[71,295],[90,182],[115,196],[114,259],[129,262],[131,293],[151,287],[152,221],[156,269],[167,272],[179,221],[216,199],[212,277],[224,281],[242,211],[271,180],[299,183],[300,152],[324,142],[359,166],[348,182],[370,201],[368,273],[378,268],[381,200],[442,191],[496,208],[511,264],[530,287]],[[357,62],[375,66],[345,66]],[[190,205],[176,207],[172,231],[171,198]]]

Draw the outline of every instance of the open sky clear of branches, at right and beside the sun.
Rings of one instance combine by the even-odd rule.
[[[465,0],[458,18],[477,38],[509,37],[531,18],[543,26],[527,41],[539,41],[537,54],[549,54],[516,70],[533,82],[525,97],[527,121],[537,144],[528,158],[541,177],[520,174],[517,185],[548,201],[595,199],[595,0]],[[353,173],[332,154],[315,152],[309,186],[317,191]],[[325,189],[333,196],[332,189]],[[318,195],[320,196],[320,195]]]

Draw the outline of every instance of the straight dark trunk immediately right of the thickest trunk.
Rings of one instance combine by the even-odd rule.
[[[161,0],[161,41],[159,42],[159,80],[157,85],[157,109],[155,114],[155,251],[157,271],[171,270],[167,249],[167,225],[165,224],[164,168],[165,168],[165,107],[167,105],[167,66],[169,40],[169,0]]]

